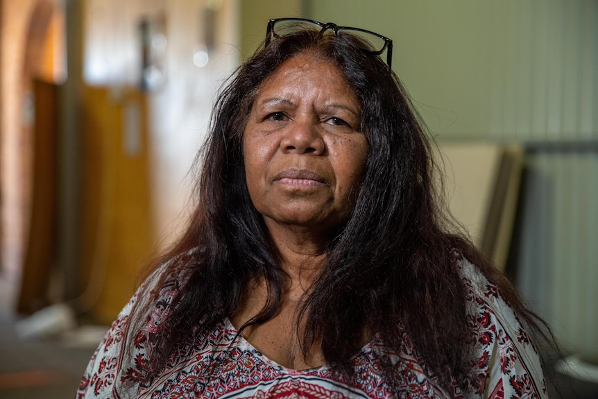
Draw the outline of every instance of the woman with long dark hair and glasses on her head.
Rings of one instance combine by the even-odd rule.
[[[542,323],[447,232],[391,49],[271,20],[214,108],[189,228],[79,398],[545,397],[521,324]]]

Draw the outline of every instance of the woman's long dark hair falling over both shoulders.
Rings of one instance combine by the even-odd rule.
[[[259,85],[282,62],[306,52],[338,67],[353,87],[369,144],[352,216],[326,243],[327,266],[298,312],[306,353],[321,343],[327,362],[342,368],[364,334],[378,334],[388,348],[399,350],[401,326],[445,387],[447,375],[465,377],[470,359],[461,259],[474,263],[518,316],[543,332],[509,281],[454,233],[436,198],[424,125],[398,77],[377,56],[360,51],[357,40],[314,31],[280,37],[244,62],[219,94],[197,161],[189,227],[155,262],[177,258],[190,277],[156,337],[148,378],[190,331],[207,332],[234,314],[250,280],[266,280],[268,301],[249,323],[276,312],[287,277],[246,188],[242,137]]]

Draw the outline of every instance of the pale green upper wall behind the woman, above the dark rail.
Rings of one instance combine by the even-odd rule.
[[[432,132],[598,138],[598,2],[305,0],[305,15],[391,37]]]

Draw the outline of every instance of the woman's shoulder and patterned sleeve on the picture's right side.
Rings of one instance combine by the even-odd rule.
[[[465,260],[459,266],[473,359],[470,391],[487,398],[545,398],[540,359],[518,316],[476,266]]]

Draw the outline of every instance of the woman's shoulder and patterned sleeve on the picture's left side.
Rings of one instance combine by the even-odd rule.
[[[135,388],[153,336],[191,275],[188,255],[161,264],[123,307],[89,360],[77,398],[105,398]]]

